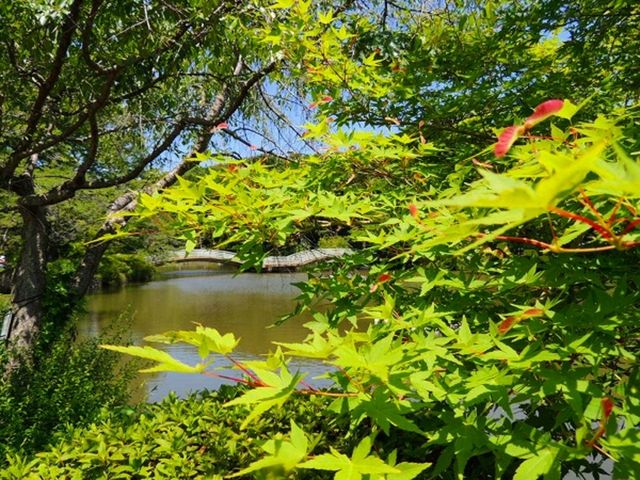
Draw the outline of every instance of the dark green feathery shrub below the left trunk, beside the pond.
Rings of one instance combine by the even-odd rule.
[[[40,449],[69,425],[89,422],[101,408],[127,401],[133,368],[98,348],[105,341],[126,341],[124,335],[112,331],[80,342],[74,336],[68,327],[52,344],[39,347],[35,365],[0,380],[0,459],[7,452]]]

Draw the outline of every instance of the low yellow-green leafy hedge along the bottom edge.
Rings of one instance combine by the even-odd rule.
[[[237,393],[236,388],[222,387],[185,400],[170,396],[159,404],[105,412],[101,420],[71,430],[35,458],[9,455],[0,478],[220,478],[260,458],[261,442],[277,433],[288,434],[290,419],[315,432],[314,453],[327,451],[328,445],[350,451],[359,436],[348,434],[339,417],[327,410],[324,398],[310,397],[296,398],[288,408],[263,415],[241,430],[246,411],[223,407]],[[277,472],[255,475],[250,478],[279,477]],[[307,470],[295,478],[331,476]]]

